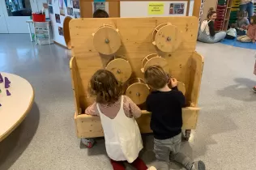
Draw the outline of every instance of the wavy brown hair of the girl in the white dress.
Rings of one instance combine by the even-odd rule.
[[[122,96],[122,85],[109,70],[97,70],[92,75],[88,90],[100,104],[113,104]]]

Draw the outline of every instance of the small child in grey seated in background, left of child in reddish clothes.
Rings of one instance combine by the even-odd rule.
[[[246,29],[249,25],[249,20],[247,19],[247,12],[246,11],[239,11],[237,12],[237,35],[244,36],[246,35]]]

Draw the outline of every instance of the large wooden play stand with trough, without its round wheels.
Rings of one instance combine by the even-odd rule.
[[[181,45],[176,51],[163,53],[152,45],[151,33],[160,23],[172,23],[182,32]],[[203,72],[203,57],[195,52],[198,34],[196,17],[158,17],[158,18],[109,18],[109,19],[72,19],[70,21],[70,39],[73,57],[70,60],[70,72],[75,96],[75,126],[79,138],[103,136],[100,117],[84,113],[92,104],[87,98],[87,84],[96,70],[105,68],[113,56],[97,53],[93,46],[92,33],[103,24],[118,28],[122,47],[116,55],[123,55],[133,69],[131,78],[143,79],[141,62],[149,53],[158,53],[169,62],[169,74],[186,85],[186,105],[183,108],[183,129],[195,129],[199,108],[198,95]],[[150,113],[143,110],[138,120],[141,133],[151,133]]]

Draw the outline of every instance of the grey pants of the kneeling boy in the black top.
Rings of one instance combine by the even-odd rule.
[[[154,150],[156,153],[157,163],[154,165],[157,170],[169,170],[171,161],[183,165],[190,170],[193,165],[192,159],[180,153],[181,134],[164,140],[154,139]]]

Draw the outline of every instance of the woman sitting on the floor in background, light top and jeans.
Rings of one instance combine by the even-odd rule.
[[[225,38],[226,32],[215,32],[214,22],[216,18],[216,11],[213,11],[213,8],[210,8],[207,14],[207,19],[202,22],[199,28],[198,41],[204,43],[216,43]]]

